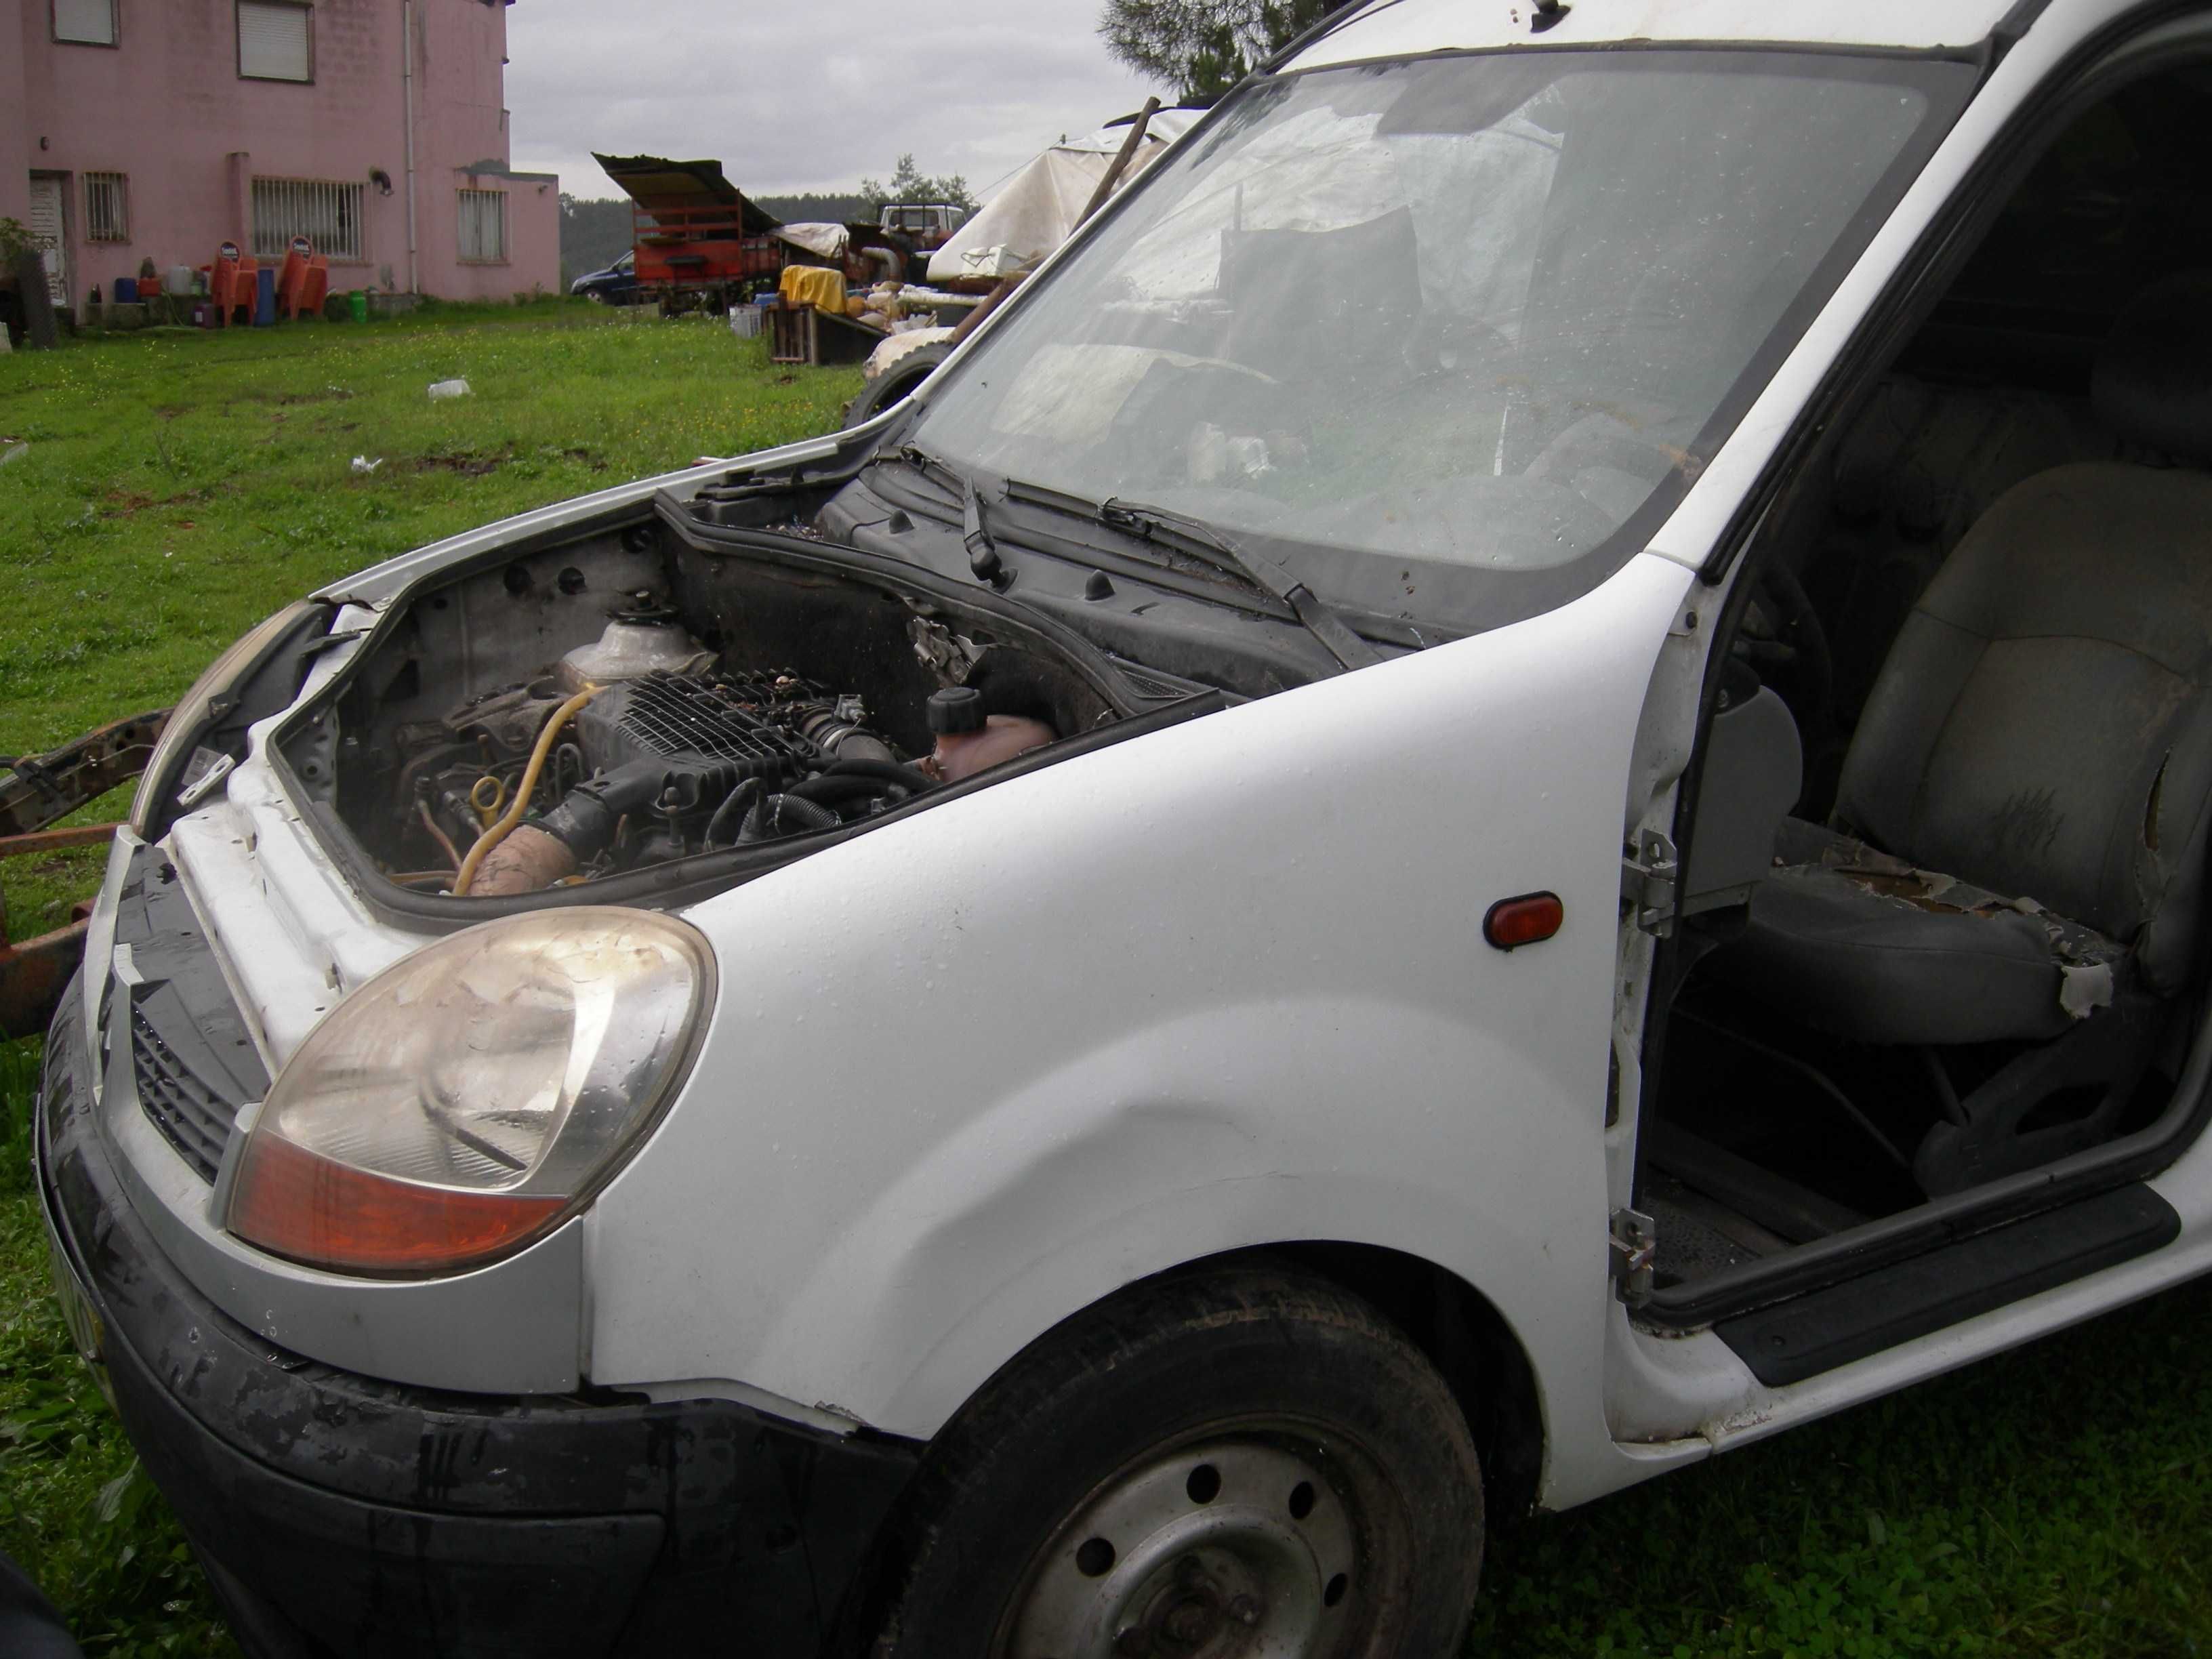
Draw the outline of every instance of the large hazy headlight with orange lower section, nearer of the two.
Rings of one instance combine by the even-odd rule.
[[[714,958],[641,909],[511,916],[378,973],[276,1075],[226,1225],[314,1267],[440,1274],[606,1186],[697,1051]]]

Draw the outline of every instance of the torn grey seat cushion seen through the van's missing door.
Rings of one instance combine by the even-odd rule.
[[[2126,949],[2033,900],[1785,818],[1776,869],[1708,973],[1871,1044],[2055,1037],[2112,998]]]

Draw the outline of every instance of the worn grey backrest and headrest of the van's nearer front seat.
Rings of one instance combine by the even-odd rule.
[[[2139,296],[2093,400],[2179,465],[2006,491],[1898,633],[1836,818],[2190,969],[2212,810],[2212,276]]]

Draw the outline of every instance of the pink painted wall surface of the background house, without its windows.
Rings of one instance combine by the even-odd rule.
[[[0,0],[0,31],[15,22],[4,38],[22,42],[24,66],[18,100],[0,66],[0,204],[27,168],[69,173],[77,303],[93,283],[111,294],[146,257],[166,270],[204,265],[223,241],[250,250],[254,177],[363,186],[361,257],[321,248],[334,290],[504,299],[557,288],[557,237],[546,250],[535,234],[540,195],[557,230],[557,186],[544,179],[498,181],[515,197],[507,263],[458,259],[462,168],[507,166],[507,7],[484,0],[414,0],[409,274],[403,15],[405,0],[316,0],[314,80],[292,84],[239,77],[234,0],[117,0],[117,46],[55,42],[51,0]],[[84,237],[86,170],[128,177],[128,241]]]

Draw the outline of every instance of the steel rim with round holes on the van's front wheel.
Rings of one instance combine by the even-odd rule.
[[[998,1659],[1334,1659],[1376,1613],[1367,1458],[1217,1429],[1099,1482],[1031,1562]]]

